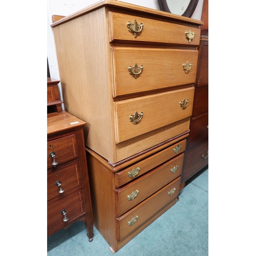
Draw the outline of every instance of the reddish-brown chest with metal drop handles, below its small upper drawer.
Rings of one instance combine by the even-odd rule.
[[[65,111],[47,115],[47,236],[81,220],[93,239],[85,124]]]

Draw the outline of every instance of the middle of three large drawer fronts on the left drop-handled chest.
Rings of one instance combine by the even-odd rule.
[[[56,182],[61,184],[64,190],[59,193],[60,188],[56,186]],[[53,170],[47,174],[47,201],[55,197],[64,197],[71,189],[81,185],[80,170],[78,162],[67,165],[63,168]]]

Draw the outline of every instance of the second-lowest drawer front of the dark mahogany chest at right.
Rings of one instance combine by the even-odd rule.
[[[208,141],[208,115],[190,123],[187,152]]]

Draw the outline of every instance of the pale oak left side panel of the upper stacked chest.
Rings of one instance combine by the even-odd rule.
[[[54,27],[53,32],[65,108],[88,123],[84,127],[87,146],[112,158],[114,138],[106,23],[105,8],[101,8]]]

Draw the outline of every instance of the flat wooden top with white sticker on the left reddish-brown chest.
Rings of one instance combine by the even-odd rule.
[[[66,111],[47,114],[47,135],[84,126],[87,123]]]

